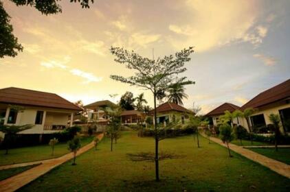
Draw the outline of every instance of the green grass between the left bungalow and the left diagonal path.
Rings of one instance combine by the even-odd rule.
[[[93,136],[85,136],[81,139],[82,146],[93,141]],[[52,156],[52,147],[47,145],[38,145],[33,147],[21,147],[9,149],[8,155],[5,150],[0,150],[0,165],[10,165],[15,163],[25,163],[36,160],[45,160],[56,158],[69,153],[67,143],[58,143],[54,148],[54,156]]]

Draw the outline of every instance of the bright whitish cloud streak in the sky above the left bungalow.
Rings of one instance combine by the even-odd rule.
[[[80,69],[71,69],[71,67],[67,66],[66,64],[71,60],[69,56],[65,56],[63,60],[49,60],[41,62],[41,66],[47,69],[61,69],[63,71],[67,71],[72,75],[76,75],[85,79],[84,83],[91,83],[91,82],[100,82],[102,81],[102,77],[97,77],[92,73],[87,73]]]

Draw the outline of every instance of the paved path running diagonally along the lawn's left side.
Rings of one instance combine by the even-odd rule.
[[[101,140],[103,136],[104,134],[99,134],[98,135],[99,140]],[[84,152],[87,152],[92,147],[94,147],[93,142],[89,143],[88,145],[85,145],[84,147],[78,150],[77,156],[79,156]],[[16,191],[16,189],[19,189],[23,187],[25,184],[28,184],[33,180],[36,180],[36,178],[38,178],[39,176],[44,175],[48,171],[54,169],[54,167],[57,167],[58,165],[65,163],[67,160],[70,160],[71,158],[73,158],[73,154],[69,153],[65,154],[64,156],[60,156],[59,158],[43,160],[41,162],[42,163],[41,165],[33,167],[32,169],[28,169],[27,171],[19,173],[16,176],[12,176],[11,178],[0,181],[0,191],[1,192]]]

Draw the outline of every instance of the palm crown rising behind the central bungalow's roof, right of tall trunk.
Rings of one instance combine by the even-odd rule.
[[[172,84],[168,88],[168,101],[177,105],[183,105],[182,99],[188,98],[188,95],[184,93],[185,88],[181,84]]]

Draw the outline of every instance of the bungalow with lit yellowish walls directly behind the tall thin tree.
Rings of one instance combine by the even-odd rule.
[[[150,110],[150,116],[154,115],[154,110]],[[156,108],[157,123],[171,123],[181,121],[182,124],[189,121],[189,116],[194,115],[194,112],[179,106],[175,103],[166,102]]]

